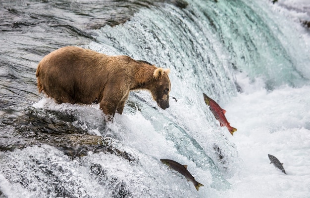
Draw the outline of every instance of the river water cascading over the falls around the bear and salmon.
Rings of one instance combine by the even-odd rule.
[[[307,0],[1,1],[0,198],[309,198],[309,21]],[[38,63],[67,45],[170,68],[170,108],[135,91],[106,123],[39,94]]]

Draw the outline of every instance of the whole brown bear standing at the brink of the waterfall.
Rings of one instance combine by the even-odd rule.
[[[122,114],[129,92],[147,89],[157,105],[169,107],[169,69],[157,68],[129,56],[108,56],[67,46],[46,55],[37,68],[39,93],[57,103],[98,104],[112,118]]]

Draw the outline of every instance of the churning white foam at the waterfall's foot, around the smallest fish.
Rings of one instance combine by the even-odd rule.
[[[223,197],[309,198],[310,86],[272,92],[254,87],[243,87],[247,91],[224,106],[238,128],[229,140],[243,164]],[[284,163],[287,175],[269,164],[268,154]]]

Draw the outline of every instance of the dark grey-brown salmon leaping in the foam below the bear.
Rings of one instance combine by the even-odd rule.
[[[182,175],[184,175],[185,178],[187,179],[187,181],[193,182],[197,191],[199,190],[199,187],[204,186],[195,180],[195,178],[192,176],[192,174],[187,170],[187,165],[182,165],[182,164],[180,164],[176,161],[173,161],[171,159],[160,159],[160,161],[162,163],[168,165],[173,170],[176,170],[179,173],[181,173]]]

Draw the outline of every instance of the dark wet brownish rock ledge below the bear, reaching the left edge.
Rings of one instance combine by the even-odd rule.
[[[34,145],[51,145],[71,158],[93,153],[107,153],[134,162],[137,159],[117,148],[118,142],[110,137],[91,135],[75,126],[76,118],[69,113],[38,112],[32,108],[22,111],[8,109],[0,119],[0,151],[13,151]]]

